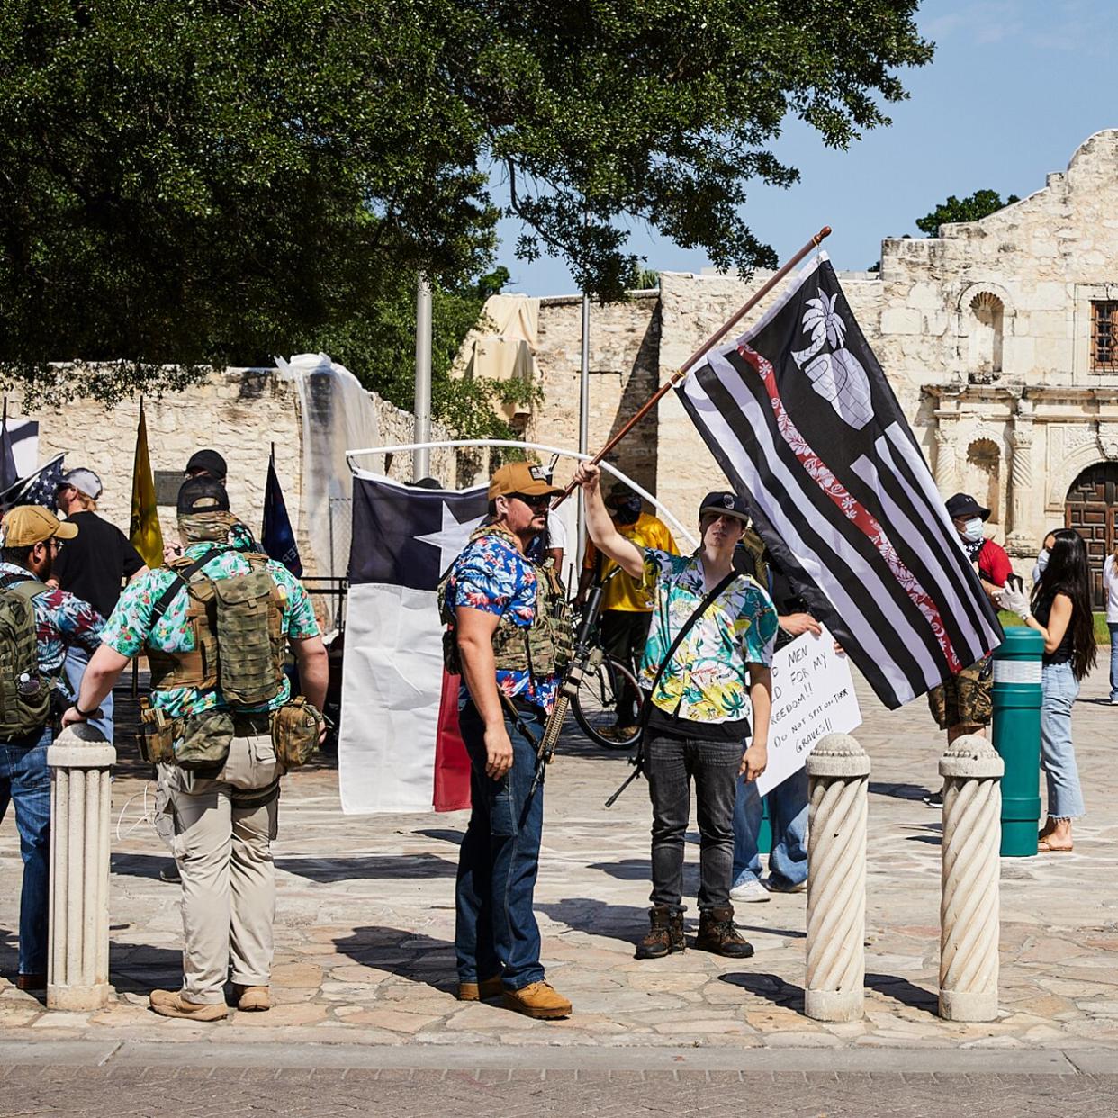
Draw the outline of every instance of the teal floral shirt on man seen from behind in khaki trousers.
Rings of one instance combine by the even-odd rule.
[[[183,553],[190,559],[201,559],[212,548],[212,543],[191,543]],[[201,574],[220,579],[231,575],[247,575],[250,569],[240,551],[219,551],[201,568]],[[283,597],[284,634],[296,641],[318,636],[319,623],[314,619],[314,609],[303,584],[283,563],[271,559],[268,574]],[[139,655],[149,644],[162,652],[192,652],[195,634],[187,622],[188,596],[184,590],[172,599],[163,616],[152,624],[152,612],[174,578],[174,572],[169,567],[160,567],[130,582],[105,623],[101,639],[122,656],[129,657]],[[282,707],[290,694],[291,682],[285,676],[280,693],[267,703],[267,709]],[[153,691],[151,702],[153,707],[167,711],[171,718],[198,714],[227,705],[220,688],[169,688],[167,691]]]

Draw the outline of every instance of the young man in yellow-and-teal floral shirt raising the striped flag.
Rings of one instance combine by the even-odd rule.
[[[735,928],[730,903],[733,804],[738,775],[756,780],[768,762],[769,665],[777,631],[765,590],[746,575],[730,577],[749,513],[736,494],[709,493],[699,505],[699,550],[673,556],[638,548],[617,531],[601,500],[597,466],[581,464],[575,480],[582,486],[595,547],[655,590],[641,670],[642,684],[652,689],[644,750],[652,796],[652,909],[636,957],[684,948],[683,851],[693,777],[700,836],[695,946],[748,958],[754,949]],[[714,600],[684,629],[716,589]]]

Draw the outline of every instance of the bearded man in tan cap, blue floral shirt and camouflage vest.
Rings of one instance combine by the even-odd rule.
[[[455,893],[458,997],[502,997],[506,1008],[543,1020],[568,1016],[571,1005],[544,982],[540,964],[532,893],[543,786],[532,790],[537,752],[528,735],[534,723],[539,737],[555,704],[563,623],[558,581],[524,550],[561,492],[539,466],[501,466],[490,480],[489,522],[439,591],[447,669],[463,678],[458,723],[471,762]]]

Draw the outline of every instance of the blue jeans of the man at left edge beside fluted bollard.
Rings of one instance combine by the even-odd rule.
[[[19,973],[47,973],[50,878],[50,728],[0,742],[0,819],[16,806],[23,887],[19,896]]]

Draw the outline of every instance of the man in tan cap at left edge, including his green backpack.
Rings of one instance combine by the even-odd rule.
[[[16,808],[23,884],[19,899],[20,989],[47,985],[50,870],[51,700],[61,694],[68,648],[95,652],[103,624],[93,606],[46,586],[64,541],[78,529],[41,505],[20,505],[0,529],[0,819]],[[56,708],[57,709],[57,708]]]

